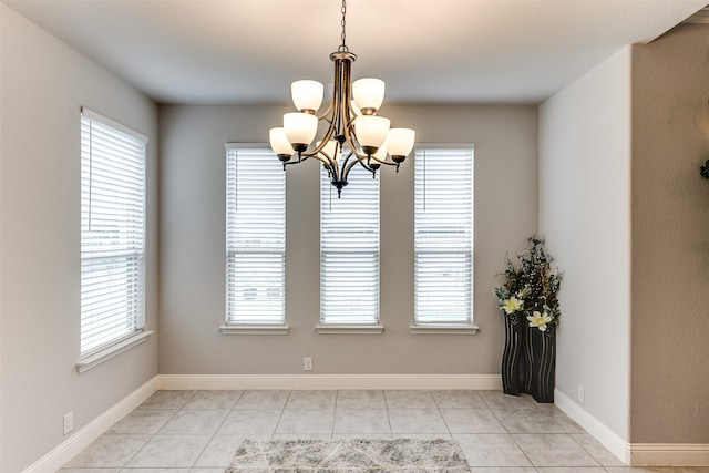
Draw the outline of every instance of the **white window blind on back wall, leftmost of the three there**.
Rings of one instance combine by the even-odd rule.
[[[273,151],[227,144],[226,322],[286,322],[286,173]]]

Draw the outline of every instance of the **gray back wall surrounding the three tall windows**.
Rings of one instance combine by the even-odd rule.
[[[475,143],[476,336],[411,335],[413,166],[384,169],[381,207],[382,336],[317,335],[318,169],[287,174],[286,317],[281,336],[224,336],[226,142],[267,141],[280,106],[161,107],[160,371],[167,374],[500,372],[503,325],[491,294],[506,250],[537,222],[534,106],[391,106],[382,114],[422,143]],[[347,191],[347,189],[346,189]]]

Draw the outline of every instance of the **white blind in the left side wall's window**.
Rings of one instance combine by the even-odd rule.
[[[146,143],[82,109],[82,357],[143,329]]]

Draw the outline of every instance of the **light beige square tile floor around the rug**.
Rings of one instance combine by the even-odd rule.
[[[224,473],[250,439],[456,439],[473,473],[627,467],[553,404],[500,391],[157,391],[60,473]]]

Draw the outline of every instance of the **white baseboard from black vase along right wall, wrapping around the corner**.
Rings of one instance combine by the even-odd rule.
[[[628,443],[559,390],[555,404],[621,462],[633,466],[709,466],[709,444]]]

